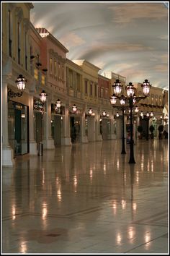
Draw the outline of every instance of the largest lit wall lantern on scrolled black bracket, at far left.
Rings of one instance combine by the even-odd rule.
[[[15,98],[15,97],[21,97],[22,92],[25,88],[27,80],[22,76],[22,74],[19,74],[19,77],[17,77],[17,80],[15,81],[17,83],[17,88],[20,90],[19,93],[14,93],[11,88],[8,88],[8,100],[10,98]]]

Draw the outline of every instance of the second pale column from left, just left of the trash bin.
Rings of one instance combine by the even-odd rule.
[[[37,155],[37,142],[34,137],[34,121],[34,96],[29,95],[30,155]]]

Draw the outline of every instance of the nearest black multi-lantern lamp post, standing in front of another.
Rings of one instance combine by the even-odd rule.
[[[114,102],[116,103],[116,100],[119,99],[120,103],[121,103],[122,95],[119,96],[119,94],[121,93],[121,90],[122,90],[121,82],[117,79],[116,82],[114,82],[114,85],[112,85],[112,87],[114,88],[114,92],[115,92],[115,94],[112,95],[112,97],[114,98]],[[124,98],[123,98],[125,103],[129,103],[129,106],[130,106],[130,160],[129,160],[129,163],[135,163],[134,151],[133,151],[133,145],[134,145],[134,141],[133,141],[133,105],[134,105],[134,103],[137,103],[141,99],[144,99],[148,96],[151,85],[148,82],[148,80],[145,80],[143,82],[143,84],[141,85],[141,87],[143,88],[144,96],[135,96],[134,95],[135,88],[134,88],[132,82],[129,82],[129,84],[125,87],[128,97],[124,96]]]

